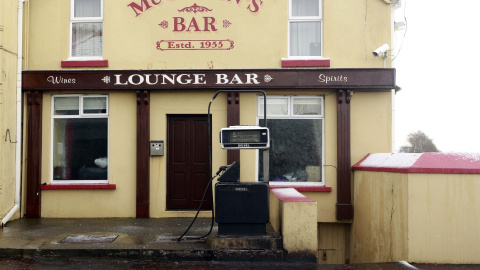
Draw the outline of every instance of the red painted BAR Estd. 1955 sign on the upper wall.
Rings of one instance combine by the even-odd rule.
[[[232,34],[230,27],[232,24],[241,25],[242,22],[238,21],[237,17],[235,17],[237,21],[235,18],[230,18],[228,14],[232,14],[232,12],[221,12],[220,5],[224,6],[226,3],[230,3],[229,6],[243,9],[246,14],[251,14],[251,16],[259,14],[264,6],[263,0],[217,0],[216,2],[193,3],[193,5],[175,0],[135,0],[128,3],[125,9],[128,10],[129,16],[135,17],[136,20],[142,20],[144,14],[155,13],[158,21],[152,25],[152,28],[161,29],[162,37],[167,33],[174,34],[175,37],[172,39],[156,41],[156,49],[160,52],[230,51],[235,48],[235,41],[230,37]],[[228,38],[219,39],[217,33],[220,32]],[[191,33],[202,33],[203,38],[189,39]]]

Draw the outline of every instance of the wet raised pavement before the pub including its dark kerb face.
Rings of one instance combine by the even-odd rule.
[[[285,261],[282,250],[212,249],[211,219],[20,219],[0,232],[2,256],[109,257],[149,261]]]

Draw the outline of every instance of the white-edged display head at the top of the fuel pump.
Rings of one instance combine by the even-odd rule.
[[[270,133],[266,127],[232,126],[222,128],[220,143],[223,149],[267,149]]]

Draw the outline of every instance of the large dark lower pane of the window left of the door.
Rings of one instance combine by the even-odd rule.
[[[54,119],[53,179],[107,180],[108,119]]]

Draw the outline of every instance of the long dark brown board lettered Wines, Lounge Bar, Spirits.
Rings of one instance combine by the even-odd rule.
[[[24,71],[23,90],[338,89],[389,91],[395,69]]]

